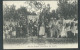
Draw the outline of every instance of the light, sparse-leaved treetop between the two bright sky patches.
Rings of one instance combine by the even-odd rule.
[[[31,8],[29,8],[29,11],[30,12],[41,12],[41,10],[43,9],[43,5],[44,5],[44,3],[43,2],[39,2],[39,1],[28,1],[28,2],[26,2],[26,4],[28,4],[29,5],[29,7],[31,7]],[[27,8],[28,8],[28,6],[27,6]]]

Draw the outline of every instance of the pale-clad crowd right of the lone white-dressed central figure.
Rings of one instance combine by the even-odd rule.
[[[51,22],[51,36],[56,35],[57,37],[73,37],[78,34],[78,21],[74,20],[56,20],[53,19]],[[77,24],[77,25],[76,25]]]

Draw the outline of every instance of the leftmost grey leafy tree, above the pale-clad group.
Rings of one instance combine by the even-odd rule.
[[[3,19],[4,20],[13,20],[13,21],[16,21],[18,19],[18,14],[16,12],[16,9],[15,9],[15,5],[11,5],[10,7],[9,6],[5,6],[4,7],[4,10],[3,10]]]

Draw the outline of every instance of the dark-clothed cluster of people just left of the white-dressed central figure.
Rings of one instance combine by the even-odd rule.
[[[36,22],[33,22],[32,20],[30,20],[29,24],[28,24],[28,34],[30,36],[37,36],[37,31],[38,31],[38,25],[36,24]]]

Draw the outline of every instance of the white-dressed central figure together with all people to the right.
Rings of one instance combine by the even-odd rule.
[[[78,21],[51,18],[48,25],[42,23],[39,34],[46,37],[75,37],[78,36]]]

